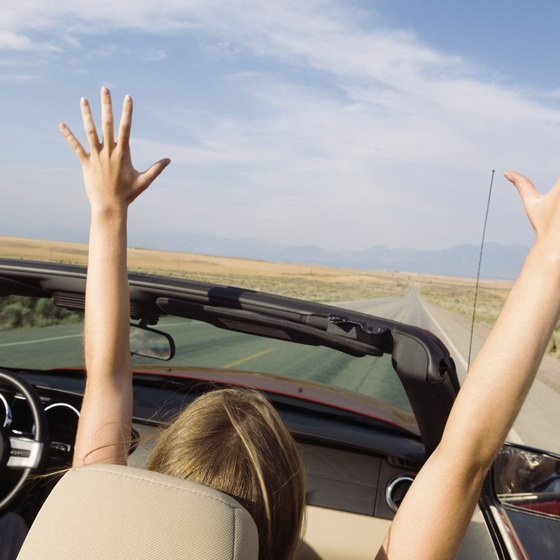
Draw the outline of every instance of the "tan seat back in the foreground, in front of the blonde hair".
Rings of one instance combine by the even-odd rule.
[[[72,469],[44,503],[18,560],[251,560],[252,517],[196,482],[115,465]]]

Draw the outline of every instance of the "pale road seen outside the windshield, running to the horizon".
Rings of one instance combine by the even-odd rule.
[[[467,371],[470,321],[420,299],[417,286],[407,297],[339,303],[356,311],[417,325],[436,334],[448,347],[462,381]],[[486,329],[475,329],[471,362],[480,350]],[[496,395],[496,406],[500,406]],[[560,453],[560,361],[545,357],[509,441]]]

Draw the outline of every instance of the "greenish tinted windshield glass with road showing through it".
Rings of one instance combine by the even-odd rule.
[[[175,357],[161,362],[134,356],[135,365],[257,372],[306,380],[412,413],[390,355],[358,358],[331,348],[228,331],[181,317],[165,317],[156,328],[173,337]],[[82,330],[82,312],[56,307],[50,299],[0,298],[0,365],[22,369],[81,367]]]

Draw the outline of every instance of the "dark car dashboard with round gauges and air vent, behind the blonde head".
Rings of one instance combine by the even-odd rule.
[[[35,386],[47,416],[46,470],[69,468],[84,389],[83,372],[32,371],[22,377]],[[154,429],[169,421],[196,393],[207,389],[200,382],[195,388],[190,380],[135,379],[132,441],[138,449],[136,445],[131,448],[129,463],[143,466]],[[12,397],[11,430],[17,435],[32,435],[29,406],[23,397]],[[422,463],[419,441],[347,414],[334,414],[316,403],[300,406],[279,396],[271,400],[298,442],[307,475],[308,504],[392,519]],[[0,415],[6,415],[5,408],[0,404]],[[389,487],[392,494],[388,498]]]

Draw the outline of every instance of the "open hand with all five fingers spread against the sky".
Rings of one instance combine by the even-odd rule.
[[[92,209],[126,209],[140,193],[150,186],[170,163],[170,160],[161,159],[142,173],[134,169],[129,144],[132,125],[132,99],[130,96],[124,98],[117,141],[115,141],[114,135],[111,94],[107,88],[104,87],[101,90],[101,141],[87,99],[81,99],[80,108],[89,153],[66,124],[61,123],[60,130],[80,160],[85,188]]]

